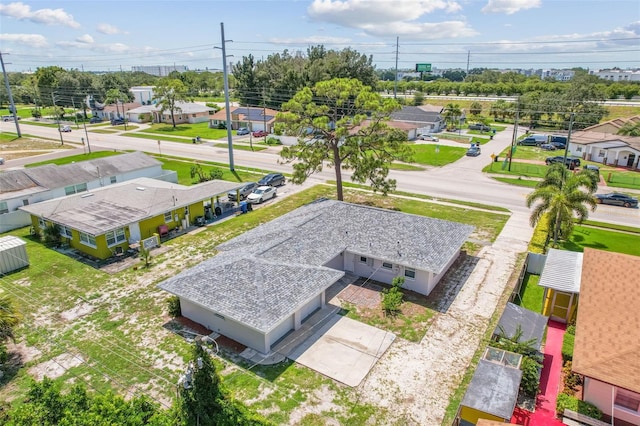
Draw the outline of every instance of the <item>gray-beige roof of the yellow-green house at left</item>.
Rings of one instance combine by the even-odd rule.
[[[138,178],[21,209],[60,225],[91,235],[101,235],[171,209],[225,194],[242,185],[213,180],[183,186],[157,179]]]

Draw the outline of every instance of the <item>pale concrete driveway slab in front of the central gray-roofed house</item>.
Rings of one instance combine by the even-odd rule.
[[[358,386],[396,336],[337,313],[331,315],[287,356],[340,383]]]

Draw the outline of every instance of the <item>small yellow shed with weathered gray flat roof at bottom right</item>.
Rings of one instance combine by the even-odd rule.
[[[458,425],[481,424],[481,419],[509,423],[521,380],[519,368],[481,359],[458,408]]]

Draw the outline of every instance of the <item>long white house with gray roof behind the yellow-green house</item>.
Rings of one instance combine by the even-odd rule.
[[[0,173],[0,232],[31,224],[29,214],[19,209],[22,206],[139,177],[178,181],[176,172],[163,170],[160,161],[142,152],[4,171]]]

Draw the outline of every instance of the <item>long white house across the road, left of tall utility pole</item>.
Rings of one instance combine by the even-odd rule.
[[[176,124],[202,123],[209,121],[215,113],[215,108],[194,102],[176,102],[176,107],[180,108],[173,113]],[[146,123],[151,121],[153,123],[172,124],[171,111],[165,110],[162,112],[158,105],[138,106],[137,108],[128,110],[125,114],[127,120],[132,123]]]

